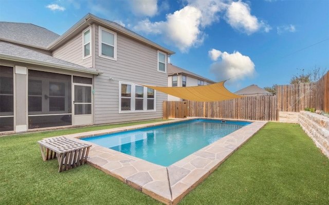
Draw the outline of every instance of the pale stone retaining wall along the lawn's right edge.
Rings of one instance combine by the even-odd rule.
[[[300,111],[298,123],[322,153],[329,158],[329,117]]]

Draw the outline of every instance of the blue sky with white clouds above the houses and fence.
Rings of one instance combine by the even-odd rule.
[[[63,34],[87,13],[176,54],[170,63],[235,92],[329,69],[328,0],[0,0],[0,20]]]

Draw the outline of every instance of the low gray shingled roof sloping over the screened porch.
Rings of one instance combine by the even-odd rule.
[[[97,70],[88,69],[83,66],[70,63],[65,60],[54,58],[50,55],[46,55],[40,52],[36,52],[6,42],[0,42],[0,59],[16,60],[22,63],[56,67],[66,70],[74,70],[74,71],[92,73],[92,74],[102,73]]]

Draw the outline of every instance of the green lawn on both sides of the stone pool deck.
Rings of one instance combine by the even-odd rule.
[[[36,142],[126,125],[0,137],[0,204],[161,204],[89,165],[58,173],[57,160],[43,161]],[[269,122],[180,204],[328,201],[329,159],[299,125]]]

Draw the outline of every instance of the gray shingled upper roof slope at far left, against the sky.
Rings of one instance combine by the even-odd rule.
[[[60,35],[40,26],[0,22],[0,40],[46,49]]]

